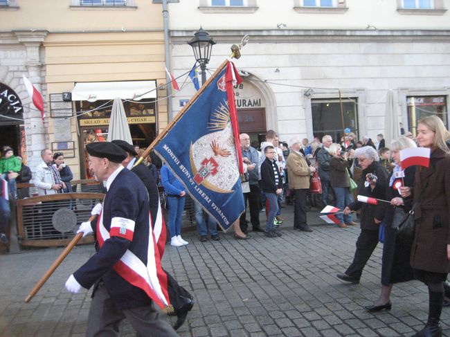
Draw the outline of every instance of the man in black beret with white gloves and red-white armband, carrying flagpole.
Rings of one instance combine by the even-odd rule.
[[[123,149],[109,142],[88,144],[86,149],[89,168],[97,181],[106,181],[107,188],[98,223],[84,222],[78,230],[87,235],[96,228],[97,252],[66,282],[72,293],[94,286],[86,336],[118,336],[124,318],[136,329],[136,336],[178,336],[152,308],[152,300],[163,302],[165,295],[152,276],[161,265],[149,253],[157,249],[147,190],[136,174],[120,164],[126,158]],[[147,263],[151,258],[155,261]]]

